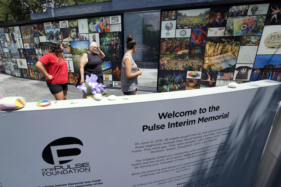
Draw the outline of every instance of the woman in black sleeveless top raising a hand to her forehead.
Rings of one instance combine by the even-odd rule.
[[[97,46],[97,43],[92,41],[88,46],[88,51],[84,53],[79,61],[80,66],[80,77],[76,83],[76,87],[85,82],[86,75],[89,77],[91,74],[97,75],[97,82],[103,84],[102,74],[102,60],[104,53]],[[87,98],[87,94],[83,93],[83,98]]]

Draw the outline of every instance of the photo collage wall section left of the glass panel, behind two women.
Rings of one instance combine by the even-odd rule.
[[[59,20],[31,25],[0,27],[0,70],[17,77],[45,80],[36,62],[49,51],[54,40],[64,46],[68,83],[76,84],[79,61],[95,41],[104,52],[104,85],[120,87],[122,52],[121,15],[74,20]]]

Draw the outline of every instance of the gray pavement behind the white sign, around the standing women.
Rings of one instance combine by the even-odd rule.
[[[157,69],[141,69],[142,75],[138,76],[138,94],[157,93]],[[107,87],[109,93],[115,96],[124,96],[121,88]],[[15,77],[0,72],[0,92],[4,97],[20,96],[26,102],[42,100],[54,101],[54,96],[49,91],[45,81]],[[109,95],[106,95],[108,97]],[[68,85],[66,99],[81,99],[82,91],[77,91],[75,85]]]

